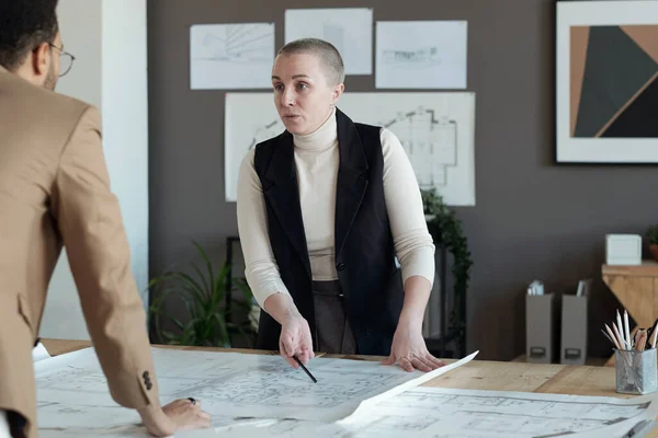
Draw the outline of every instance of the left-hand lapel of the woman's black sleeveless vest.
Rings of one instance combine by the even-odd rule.
[[[310,278],[310,261],[304,232],[302,206],[299,205],[293,136],[288,131],[284,131],[279,139],[272,161],[265,171],[265,178],[271,184],[268,187],[263,186],[263,195],[270,200],[274,214]]]

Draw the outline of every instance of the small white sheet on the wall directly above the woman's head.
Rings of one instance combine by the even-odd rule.
[[[372,74],[373,10],[370,8],[288,9],[285,43],[315,37],[333,44],[345,74]]]

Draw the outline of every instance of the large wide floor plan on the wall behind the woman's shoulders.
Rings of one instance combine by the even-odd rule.
[[[421,188],[436,188],[450,206],[475,205],[475,93],[345,93],[337,106],[395,134]],[[226,200],[235,201],[247,151],[285,128],[271,93],[227,93],[225,114]]]

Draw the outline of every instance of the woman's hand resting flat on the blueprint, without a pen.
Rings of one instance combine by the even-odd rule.
[[[432,371],[445,364],[428,351],[422,337],[422,328],[406,324],[404,321],[397,326],[390,346],[390,356],[382,361],[384,365],[398,364],[406,371]]]

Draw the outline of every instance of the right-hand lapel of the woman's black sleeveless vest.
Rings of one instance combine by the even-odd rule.
[[[340,166],[336,191],[336,257],[340,255],[367,188],[367,160],[356,126],[336,108]]]

